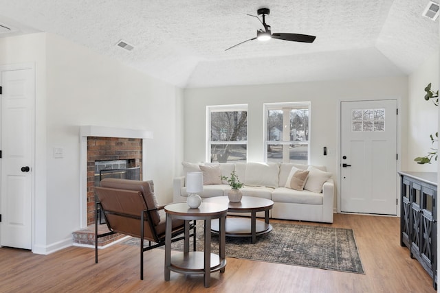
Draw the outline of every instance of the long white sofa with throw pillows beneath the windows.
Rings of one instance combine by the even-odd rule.
[[[230,186],[222,176],[230,176],[235,171],[244,183],[243,196],[256,196],[274,201],[270,217],[285,220],[333,223],[334,184],[325,166],[310,166],[294,163],[182,163],[184,174],[203,172],[203,192],[201,198],[228,196]],[[305,187],[296,190],[286,187],[292,167],[309,170]],[[309,189],[309,190],[307,190]],[[175,202],[186,200],[185,176],[173,180]]]

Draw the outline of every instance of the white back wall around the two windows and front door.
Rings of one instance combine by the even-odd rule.
[[[205,161],[206,106],[248,104],[248,161],[264,161],[263,103],[311,102],[310,163],[325,165],[333,173],[338,188],[338,107],[341,101],[362,99],[397,99],[402,115],[398,126],[406,125],[408,81],[406,77],[368,78],[329,82],[300,82],[261,86],[228,86],[206,89],[185,89],[184,159]],[[398,130],[398,141],[406,141],[406,133]],[[324,156],[326,146],[333,155]],[[406,154],[406,143],[399,143],[398,152]],[[397,174],[396,174],[397,180]],[[336,205],[335,197],[335,207]]]

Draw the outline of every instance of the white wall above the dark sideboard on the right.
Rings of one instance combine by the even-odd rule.
[[[436,52],[414,71],[408,78],[408,156],[406,157],[406,170],[415,172],[437,172],[437,164],[420,165],[414,159],[425,156],[433,146],[430,134],[438,131],[438,107],[432,101],[423,99],[425,87],[432,83],[431,89],[439,89],[439,53]]]

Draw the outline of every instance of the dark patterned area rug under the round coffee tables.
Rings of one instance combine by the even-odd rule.
[[[278,223],[272,226],[272,232],[257,236],[255,244],[251,244],[250,237],[226,237],[226,256],[364,274],[353,230]],[[138,246],[139,239],[131,237],[122,244]],[[173,243],[172,249],[183,250],[183,241]],[[197,250],[203,250],[203,222],[197,222]],[[211,251],[219,251],[219,237],[214,234]]]

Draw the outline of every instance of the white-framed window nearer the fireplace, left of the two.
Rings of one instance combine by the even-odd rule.
[[[248,105],[208,106],[207,161],[247,160]]]

